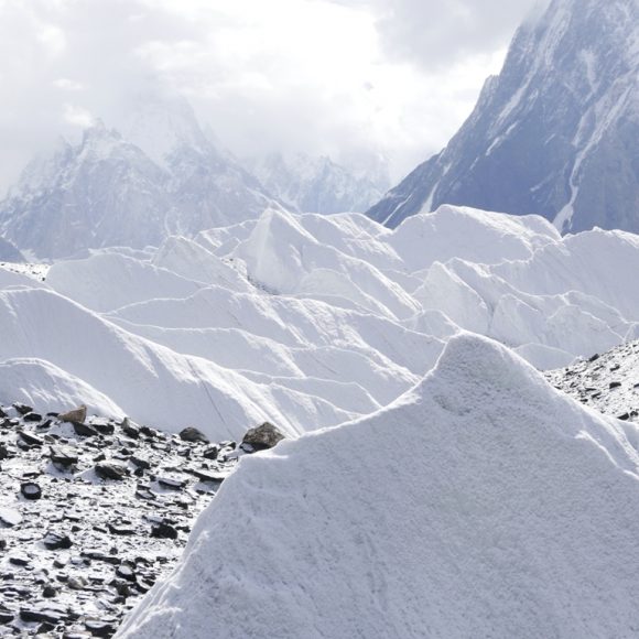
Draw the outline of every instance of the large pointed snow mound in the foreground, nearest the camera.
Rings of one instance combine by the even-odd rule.
[[[245,458],[120,637],[630,637],[639,456],[462,334],[376,415]]]

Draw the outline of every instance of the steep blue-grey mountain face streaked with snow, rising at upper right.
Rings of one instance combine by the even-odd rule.
[[[368,214],[396,227],[447,203],[638,231],[638,73],[637,0],[553,0],[446,149]]]

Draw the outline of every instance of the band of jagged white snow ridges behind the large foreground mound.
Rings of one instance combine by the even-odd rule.
[[[61,402],[156,427],[296,436],[388,405],[462,329],[540,369],[607,350],[639,334],[638,270],[637,236],[562,238],[535,216],[442,206],[391,231],[268,210],[46,282],[0,270],[0,365],[37,360]],[[0,376],[0,401],[34,392],[19,379]]]

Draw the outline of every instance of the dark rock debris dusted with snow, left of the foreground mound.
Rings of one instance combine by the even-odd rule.
[[[0,636],[110,637],[181,555],[238,458],[197,429],[0,408]],[[74,421],[65,421],[74,420]],[[76,421],[77,420],[77,421]],[[257,435],[257,440],[254,438]]]

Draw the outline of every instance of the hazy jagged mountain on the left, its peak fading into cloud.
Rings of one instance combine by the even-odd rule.
[[[280,207],[204,134],[187,102],[150,100],[126,136],[101,122],[32,162],[0,203],[1,232],[39,257],[159,245]]]

